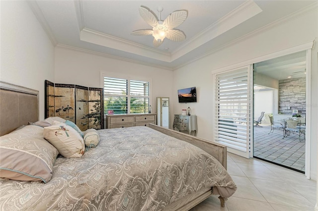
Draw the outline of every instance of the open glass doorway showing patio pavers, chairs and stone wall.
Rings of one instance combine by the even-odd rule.
[[[306,51],[254,64],[256,158],[305,173]],[[296,125],[288,124],[288,119]],[[293,121],[295,120],[295,121]],[[290,122],[291,123],[291,122]]]

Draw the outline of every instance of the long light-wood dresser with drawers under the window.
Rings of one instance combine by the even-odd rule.
[[[106,128],[128,128],[156,124],[157,114],[107,115]]]

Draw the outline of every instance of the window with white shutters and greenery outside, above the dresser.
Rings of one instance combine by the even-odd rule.
[[[103,76],[104,113],[114,114],[148,113],[150,82]]]

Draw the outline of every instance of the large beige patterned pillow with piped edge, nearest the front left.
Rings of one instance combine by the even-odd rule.
[[[47,183],[52,178],[58,154],[58,150],[43,139],[43,128],[28,125],[0,137],[0,177]]]

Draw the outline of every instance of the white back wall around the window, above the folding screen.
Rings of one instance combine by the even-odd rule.
[[[157,97],[170,97],[170,99],[172,97],[173,73],[171,70],[112,59],[72,48],[56,47],[55,83],[102,88],[100,86],[100,72],[151,78],[152,113],[157,113]],[[172,108],[172,105],[170,108]],[[171,111],[170,114],[173,114],[173,112]],[[170,121],[172,121],[171,116]],[[172,125],[171,122],[170,125]]]

